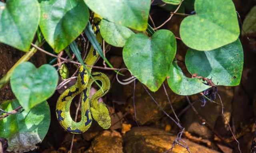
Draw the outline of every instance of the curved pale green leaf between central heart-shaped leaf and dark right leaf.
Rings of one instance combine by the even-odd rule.
[[[177,61],[172,63],[168,75],[168,85],[173,92],[179,95],[197,94],[211,87],[202,83],[202,80],[198,78],[186,77],[178,66]]]

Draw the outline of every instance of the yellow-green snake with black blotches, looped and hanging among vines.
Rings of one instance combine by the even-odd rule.
[[[94,17],[94,23],[98,24],[99,21],[100,18]],[[101,43],[102,37],[98,28],[95,27],[96,24],[94,24],[94,31],[97,40]],[[94,65],[98,60],[98,57],[98,52],[91,46],[84,62],[86,65]],[[91,73],[91,67],[86,67],[86,69]],[[94,80],[90,78],[86,69],[81,65],[77,82],[60,95],[56,104],[56,116],[60,125],[71,133],[83,133],[88,130],[92,124],[92,117],[104,129],[110,128],[111,125],[108,108],[104,102],[98,102],[98,99],[108,92],[110,88],[110,80],[104,73],[91,73],[94,80],[102,82],[102,86],[91,98],[89,98],[90,88]],[[74,122],[70,116],[70,104],[72,99],[78,94],[82,94],[82,118],[80,122]]]

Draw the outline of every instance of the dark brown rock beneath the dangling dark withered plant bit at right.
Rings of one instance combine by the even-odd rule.
[[[231,102],[234,96],[233,88],[218,86],[218,93],[220,94],[224,105],[224,115],[226,118],[228,118],[228,114],[229,116],[231,114]],[[212,128],[214,128],[217,118],[221,115],[222,106],[208,101],[206,105],[202,107],[201,102],[199,102],[198,99],[192,99],[195,99],[196,101],[194,107],[200,116],[202,116],[202,118],[205,119]],[[220,104],[220,100],[217,95],[215,101]],[[230,120],[230,117],[228,120]],[[189,108],[189,110],[187,110],[187,112],[184,114],[182,118],[182,126],[184,126],[188,132],[195,133],[200,137],[207,139],[212,137],[212,131],[210,131],[210,129],[201,123],[201,121],[198,119],[198,116],[193,112],[191,108]]]

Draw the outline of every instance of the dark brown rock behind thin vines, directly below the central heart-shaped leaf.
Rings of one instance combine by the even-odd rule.
[[[172,103],[172,106],[174,107],[174,110],[181,108],[185,103],[184,96],[179,96],[174,92],[172,92],[166,83],[165,83],[165,87],[169,95],[170,101]],[[130,114],[132,114],[133,118],[135,119],[134,105],[133,105],[132,96],[130,94],[133,92],[133,85],[126,86],[124,89],[125,89],[124,91],[126,91],[126,96],[127,97],[130,96],[130,98],[128,99],[126,111],[130,112]],[[162,107],[167,113],[171,113],[170,103],[168,102],[168,99],[166,97],[163,87],[160,87],[160,89],[156,92],[150,92],[150,94],[154,97],[154,99],[160,105],[160,107]],[[135,107],[136,107],[137,122],[140,125],[155,123],[165,115],[164,112],[162,112],[162,110],[160,109],[160,107],[158,107],[157,104],[148,95],[146,90],[144,90],[140,82],[136,84]]]

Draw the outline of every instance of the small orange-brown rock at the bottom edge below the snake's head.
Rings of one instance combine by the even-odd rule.
[[[122,136],[117,131],[103,131],[94,138],[85,153],[123,153]]]

